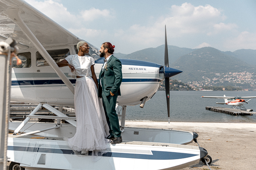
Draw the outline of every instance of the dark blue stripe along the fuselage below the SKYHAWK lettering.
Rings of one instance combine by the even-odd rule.
[[[72,84],[76,79],[69,79]],[[159,79],[123,79],[122,82],[160,82]],[[14,80],[12,86],[64,84],[62,80]]]

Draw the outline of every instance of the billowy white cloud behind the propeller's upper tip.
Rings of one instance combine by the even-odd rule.
[[[182,44],[182,40],[189,41],[185,38],[187,36],[200,39],[208,37],[207,33],[213,32],[214,29],[219,29],[221,32],[228,27],[231,29],[236,26],[221,24],[224,19],[225,16],[222,12],[211,5],[195,7],[192,4],[183,3],[181,6],[172,5],[168,15],[159,17],[148,25],[135,24],[128,29],[119,29],[115,36],[125,40],[126,43],[133,44],[134,50],[137,50],[138,47],[140,49],[156,47],[164,44],[164,26],[166,25],[167,39],[179,41]],[[202,42],[202,40],[200,41]],[[198,47],[206,46],[210,46],[210,44],[202,43]]]

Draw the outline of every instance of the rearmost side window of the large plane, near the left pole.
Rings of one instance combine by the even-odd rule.
[[[18,58],[21,60],[22,64],[17,66],[17,60],[15,58],[12,59],[12,68],[29,68],[31,67],[31,53],[30,52],[22,52],[17,54]]]

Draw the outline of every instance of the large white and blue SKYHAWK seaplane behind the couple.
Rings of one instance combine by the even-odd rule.
[[[207,165],[211,163],[208,152],[199,146],[198,135],[194,132],[125,127],[126,107],[140,104],[143,108],[163,80],[170,121],[169,78],[182,71],[169,67],[166,29],[164,66],[120,59],[123,82],[117,108],[122,107],[120,129],[123,142],[108,143],[107,152],[95,161],[90,154],[83,155],[70,149],[65,141],[76,132],[76,118],[63,111],[63,106],[74,107],[76,80],[68,76],[69,68],[59,68],[56,64],[68,55],[76,54],[75,46],[82,39],[23,0],[0,0],[0,23],[0,38],[13,38],[18,42],[17,55],[22,61],[21,66],[15,61],[12,64],[11,101],[36,104],[22,122],[9,122],[9,130],[14,131],[8,135],[7,142],[10,170],[178,170],[199,161]],[[94,68],[98,77],[103,58],[99,58],[96,47],[88,44],[90,51],[87,55],[95,59]],[[59,106],[58,110],[56,106]],[[54,116],[36,114],[40,108],[52,112]],[[54,119],[56,122],[31,123],[31,118]],[[61,123],[61,120],[68,123]],[[187,145],[193,141],[198,146]]]

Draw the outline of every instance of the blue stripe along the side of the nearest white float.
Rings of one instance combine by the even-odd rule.
[[[7,150],[75,155],[74,151],[70,150],[70,149],[8,146]],[[182,159],[182,158],[189,158],[189,157],[197,156],[197,154],[166,152],[166,151],[151,151],[151,152],[153,153],[153,155],[107,152],[105,154],[102,154],[102,157],[151,159],[151,160],[170,160],[170,159]],[[91,151],[89,151],[89,155],[91,155]]]

